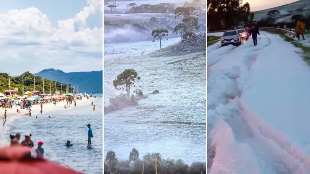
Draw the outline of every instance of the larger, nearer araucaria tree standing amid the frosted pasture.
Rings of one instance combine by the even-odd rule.
[[[117,90],[126,87],[127,97],[129,98],[130,85],[134,85],[136,79],[140,80],[140,77],[138,77],[138,73],[134,69],[125,69],[122,73],[117,75],[115,80],[113,80],[113,86]]]

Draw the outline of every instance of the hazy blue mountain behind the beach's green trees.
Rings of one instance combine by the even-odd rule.
[[[42,76],[46,79],[56,80],[62,83],[69,83],[78,86],[79,93],[101,93],[102,94],[102,71],[91,72],[63,72],[57,69],[44,69],[35,76]]]

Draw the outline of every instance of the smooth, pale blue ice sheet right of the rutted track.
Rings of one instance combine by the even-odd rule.
[[[241,101],[261,133],[309,166],[310,69],[293,45],[276,35],[250,70]],[[295,146],[295,145],[297,146]],[[309,170],[309,167],[307,167]]]

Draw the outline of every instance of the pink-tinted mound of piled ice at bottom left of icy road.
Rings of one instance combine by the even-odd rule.
[[[212,144],[215,146],[215,158],[210,174],[258,174],[260,168],[255,161],[255,154],[248,144],[238,143],[234,139],[232,128],[223,120],[215,122],[211,132]]]

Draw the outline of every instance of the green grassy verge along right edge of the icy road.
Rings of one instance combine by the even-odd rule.
[[[285,41],[290,42],[293,44],[295,47],[300,48],[303,50],[303,59],[310,64],[310,47],[309,46],[304,46],[302,43],[295,41],[292,37],[286,36],[284,32],[280,31],[266,31],[271,34],[278,34],[280,35]],[[302,36],[300,36],[302,37]]]

